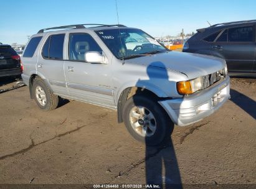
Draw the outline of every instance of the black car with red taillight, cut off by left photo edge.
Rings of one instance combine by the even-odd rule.
[[[21,58],[11,45],[0,44],[0,77],[20,76]]]

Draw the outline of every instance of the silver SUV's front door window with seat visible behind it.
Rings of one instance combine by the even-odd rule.
[[[69,60],[85,60],[85,52],[98,51],[102,53],[102,48],[95,42],[89,34],[69,35]]]

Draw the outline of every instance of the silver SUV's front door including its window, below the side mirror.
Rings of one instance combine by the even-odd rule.
[[[67,88],[73,99],[114,108],[111,62],[90,34],[70,33],[65,61]],[[106,63],[85,62],[86,52],[105,55]]]

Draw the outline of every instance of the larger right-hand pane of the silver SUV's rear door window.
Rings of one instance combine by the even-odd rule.
[[[52,35],[50,37],[49,58],[63,59],[63,46],[65,34]]]

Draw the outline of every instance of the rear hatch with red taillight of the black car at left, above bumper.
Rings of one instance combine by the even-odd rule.
[[[21,67],[19,55],[9,45],[0,45],[0,70]]]

